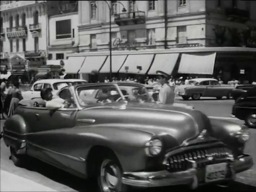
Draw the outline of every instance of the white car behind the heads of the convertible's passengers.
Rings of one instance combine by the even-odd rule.
[[[57,91],[63,86],[71,86],[78,84],[87,84],[86,80],[79,79],[43,79],[36,81],[29,91],[22,92],[24,99],[41,98],[40,93],[43,88],[52,88],[53,96],[56,95]]]

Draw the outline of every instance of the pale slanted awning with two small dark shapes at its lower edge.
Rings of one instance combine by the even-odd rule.
[[[150,67],[154,54],[128,55],[119,73],[145,74]],[[141,70],[139,69],[141,67]]]

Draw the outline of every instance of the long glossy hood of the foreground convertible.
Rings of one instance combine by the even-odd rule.
[[[209,118],[198,110],[155,103],[104,104],[78,112],[77,118],[94,119],[93,126],[113,126],[117,131],[130,129],[152,136],[169,135],[177,145],[211,128]]]

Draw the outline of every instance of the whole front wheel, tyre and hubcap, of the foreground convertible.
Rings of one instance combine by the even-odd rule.
[[[122,183],[123,170],[113,155],[102,158],[98,166],[97,182],[100,192],[125,192],[127,186]]]

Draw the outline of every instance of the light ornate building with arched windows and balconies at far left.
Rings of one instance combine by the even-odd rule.
[[[47,55],[46,1],[1,1],[1,65],[24,75],[43,65]],[[23,78],[28,78],[25,75]]]

